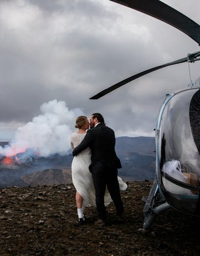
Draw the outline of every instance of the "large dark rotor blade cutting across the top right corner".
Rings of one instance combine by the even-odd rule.
[[[181,30],[200,45],[200,25],[159,0],[110,0],[146,13]]]

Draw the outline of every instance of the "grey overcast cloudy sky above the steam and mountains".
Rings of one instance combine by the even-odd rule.
[[[199,0],[163,2],[200,24]],[[199,50],[179,30],[109,0],[1,0],[0,39],[1,140],[12,139],[53,99],[88,117],[101,112],[116,136],[153,136],[165,95],[190,82],[187,63],[143,76],[99,100],[89,98]],[[193,80],[199,67],[191,64]]]

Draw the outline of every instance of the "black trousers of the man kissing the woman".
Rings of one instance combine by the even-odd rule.
[[[124,212],[124,206],[121,201],[119,182],[117,180],[117,169],[105,170],[103,173],[93,173],[93,182],[96,195],[96,211],[99,219],[106,219],[106,208],[104,205],[104,195],[107,189],[112,201],[115,204],[117,215]]]

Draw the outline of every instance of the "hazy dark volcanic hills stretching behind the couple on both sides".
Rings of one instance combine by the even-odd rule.
[[[2,146],[5,144],[7,143],[0,142]],[[116,153],[122,163],[119,176],[124,177],[126,181],[154,180],[156,158],[153,151],[153,137],[117,137]],[[29,162],[24,162],[23,153],[18,154],[18,158],[22,162],[21,165],[16,163],[9,167],[0,164],[0,187],[28,186],[37,182],[42,182],[38,183],[40,185],[45,182],[68,183],[70,177],[66,178],[66,173],[64,175],[62,170],[70,170],[73,160],[71,153],[66,156],[57,154],[50,157],[31,157]]]

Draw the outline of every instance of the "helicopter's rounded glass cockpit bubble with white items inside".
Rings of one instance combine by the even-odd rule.
[[[173,207],[200,215],[200,90],[185,89],[168,97],[157,126],[160,188]]]

